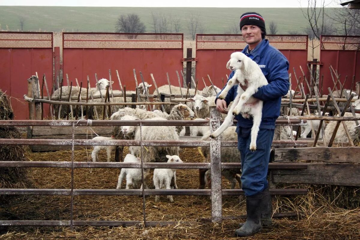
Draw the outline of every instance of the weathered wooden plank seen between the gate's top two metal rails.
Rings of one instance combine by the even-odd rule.
[[[93,129],[99,136],[112,135],[112,126],[92,126],[91,129]],[[91,129],[86,126],[78,126],[75,128],[75,135],[94,134]],[[72,126],[34,126],[32,129],[33,138],[36,136],[48,135],[72,135]],[[57,137],[55,137],[55,139],[57,139]]]

